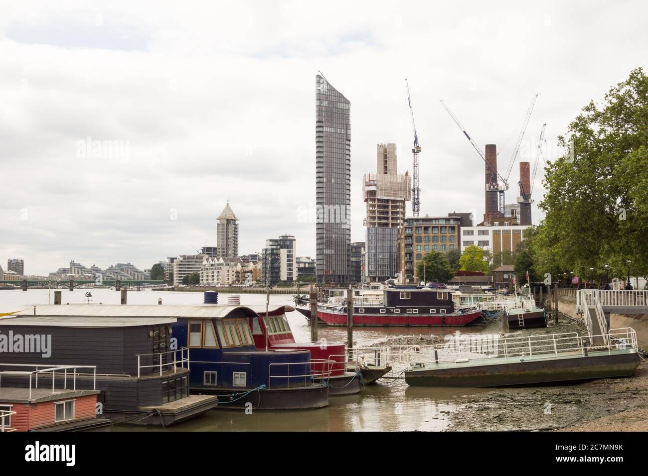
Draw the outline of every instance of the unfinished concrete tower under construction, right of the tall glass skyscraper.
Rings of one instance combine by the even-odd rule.
[[[365,174],[362,192],[367,204],[364,225],[365,275],[369,281],[393,278],[399,269],[397,241],[411,200],[411,179],[397,173],[396,144],[376,146],[377,173]]]

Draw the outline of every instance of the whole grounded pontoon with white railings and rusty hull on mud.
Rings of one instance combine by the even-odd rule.
[[[405,381],[423,387],[551,385],[627,377],[639,363],[636,333],[623,328],[594,336],[572,332],[499,339],[468,354],[443,346],[417,349]]]

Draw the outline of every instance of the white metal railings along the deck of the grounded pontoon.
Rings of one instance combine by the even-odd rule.
[[[593,345],[596,337],[602,337],[604,345]],[[636,352],[638,349],[636,332],[632,328],[611,329],[600,335],[578,335],[575,332],[550,335],[531,335],[527,337],[508,337],[496,339],[486,349],[462,348],[448,345],[412,346],[408,355],[409,367],[425,363],[465,363],[469,361],[487,361],[495,357],[505,360],[524,357],[560,357],[587,356],[588,350],[607,351],[626,349]]]

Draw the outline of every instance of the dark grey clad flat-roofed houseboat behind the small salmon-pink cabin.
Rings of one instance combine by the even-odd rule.
[[[53,368],[55,376],[50,379],[60,385],[67,377],[69,389],[67,368],[90,366],[91,372],[74,372],[74,388],[91,391],[79,395],[87,401],[75,404],[75,414],[95,398],[97,413],[115,423],[175,424],[206,413],[218,400],[189,394],[189,350],[174,346],[176,319],[170,315],[162,306],[28,306],[0,317],[0,336],[6,337],[0,337],[0,362],[5,364],[0,370],[29,365],[36,365],[34,370]],[[47,375],[38,380],[47,383]],[[29,387],[20,376],[2,376],[2,381],[3,387],[5,383]],[[32,398],[40,396],[36,393]],[[56,406],[57,402],[36,403]]]

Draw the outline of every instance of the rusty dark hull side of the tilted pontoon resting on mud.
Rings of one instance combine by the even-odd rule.
[[[511,387],[628,377],[640,363],[636,352],[527,360],[495,365],[421,368],[405,372],[408,385],[423,387]]]

